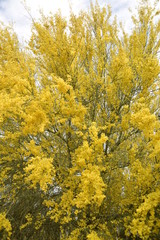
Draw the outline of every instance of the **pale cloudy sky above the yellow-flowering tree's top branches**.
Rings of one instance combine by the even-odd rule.
[[[61,10],[63,16],[69,16],[70,6],[77,14],[80,10],[88,9],[90,0],[26,0],[33,18],[38,19],[39,9],[45,14]],[[93,0],[94,2],[94,0]],[[136,0],[99,0],[101,6],[111,5],[113,15],[117,15],[127,31],[131,28],[131,10],[135,9]],[[31,17],[24,7],[24,0],[0,0],[0,21],[12,23],[21,41],[29,40],[31,35]]]

